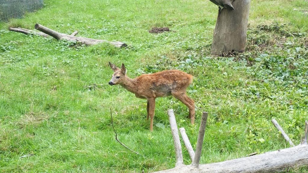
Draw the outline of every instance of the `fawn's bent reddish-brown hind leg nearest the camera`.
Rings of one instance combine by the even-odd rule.
[[[190,123],[193,124],[195,122],[195,102],[193,99],[189,98],[188,95],[186,95],[186,92],[171,92],[171,94],[188,107],[188,118],[190,119]]]

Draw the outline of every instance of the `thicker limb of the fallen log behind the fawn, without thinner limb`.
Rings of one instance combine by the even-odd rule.
[[[40,24],[35,24],[34,28],[36,30],[42,31],[45,34],[48,34],[52,37],[54,37],[57,40],[60,39],[65,39],[65,40],[69,40],[69,41],[77,41],[77,42],[81,42],[81,44],[85,44],[85,45],[94,45],[94,44],[98,44],[98,43],[102,43],[102,42],[107,42],[109,44],[114,45],[115,47],[126,47],[127,45],[125,43],[122,42],[110,42],[107,40],[98,40],[98,39],[93,39],[93,38],[86,38],[86,37],[75,37],[72,35],[67,35],[67,34],[62,34],[59,33],[57,31],[54,31],[52,29],[49,29],[43,25]]]

